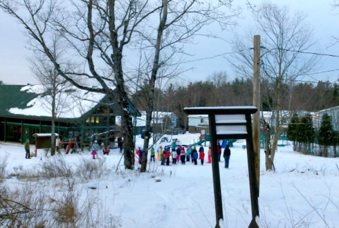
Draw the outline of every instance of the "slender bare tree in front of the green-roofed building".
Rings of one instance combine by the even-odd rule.
[[[64,47],[59,40],[60,37],[52,37],[51,54],[54,59],[61,64],[64,71],[69,71],[75,66],[63,62]],[[46,55],[41,52],[36,52],[36,55],[29,60],[31,72],[40,82],[42,87],[40,91],[36,91],[44,98],[45,108],[51,112],[51,155],[55,155],[55,119],[68,109],[69,104],[66,90],[69,88],[67,80],[59,76],[53,64],[48,60]]]

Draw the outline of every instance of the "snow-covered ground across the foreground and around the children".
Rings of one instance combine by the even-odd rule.
[[[181,144],[190,144],[196,142],[198,136],[185,134],[174,138],[178,138]],[[231,148],[229,169],[224,168],[223,158],[219,163],[224,225],[227,228],[245,228],[251,221],[247,158],[243,144],[244,141],[237,141]],[[137,138],[137,146],[143,146],[140,137]],[[212,169],[211,164],[206,163],[207,150],[208,145],[205,147],[204,165],[188,162],[186,165],[171,163],[170,166],[162,166],[156,161],[148,164],[148,173],[139,173],[125,170],[121,163],[117,168],[121,158],[118,149],[111,150],[108,156],[100,152],[96,160],[92,159],[90,152],[62,153],[53,158],[46,157],[41,150],[38,150],[38,157],[25,159],[23,145],[0,143],[0,161],[6,158],[7,162],[6,178],[1,188],[24,190],[35,186],[36,193],[44,191],[54,197],[62,196],[67,193],[63,186],[69,186],[63,184],[62,178],[24,179],[19,178],[18,173],[38,170],[55,158],[57,162],[65,161],[74,170],[84,164],[99,164],[99,174],[74,175],[74,187],[71,189],[78,193],[79,211],[85,208],[85,204],[89,205],[90,199],[94,202],[91,219],[99,221],[96,227],[113,227],[115,223],[123,228],[214,228]],[[276,172],[266,172],[264,163],[264,152],[261,151],[261,227],[339,228],[338,158],[303,155],[286,146],[280,147],[276,153]],[[53,201],[50,207],[54,208]],[[81,225],[83,222],[75,223],[75,227],[85,227]],[[111,225],[107,225],[109,223]]]

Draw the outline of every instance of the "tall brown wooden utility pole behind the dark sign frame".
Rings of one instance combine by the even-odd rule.
[[[253,106],[258,112],[253,114],[253,148],[255,160],[255,179],[259,197],[260,175],[260,35],[253,39]]]

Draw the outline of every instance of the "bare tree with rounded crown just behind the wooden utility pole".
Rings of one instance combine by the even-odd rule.
[[[289,90],[283,85],[312,72],[316,67],[316,57],[301,53],[314,46],[312,29],[305,23],[306,16],[302,12],[293,12],[291,15],[288,6],[264,2],[257,11],[253,11],[253,19],[255,31],[250,31],[247,41],[235,38],[233,49],[237,54],[232,55],[229,62],[239,76],[251,78],[253,56],[249,48],[252,47],[253,32],[261,35],[261,45],[264,46],[261,56],[262,78],[270,85],[270,88],[262,90],[261,97],[274,116],[269,123],[261,116],[267,142],[265,164],[266,169],[271,170],[278,136],[283,129],[282,104]]]

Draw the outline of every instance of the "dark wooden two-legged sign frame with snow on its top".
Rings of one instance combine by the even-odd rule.
[[[259,204],[251,125],[251,114],[256,113],[257,108],[254,106],[194,107],[185,108],[184,112],[186,114],[208,114],[216,216],[215,228],[220,228],[219,221],[220,219],[223,219],[217,141],[222,139],[246,140],[248,178],[252,208],[252,221],[249,224],[249,228],[258,228],[255,218],[259,216]]]

